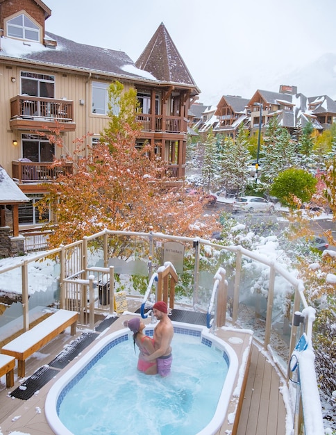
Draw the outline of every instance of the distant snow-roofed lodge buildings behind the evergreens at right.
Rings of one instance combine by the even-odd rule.
[[[191,110],[194,110],[194,104]],[[296,86],[280,85],[279,92],[257,90],[251,99],[224,95],[217,104],[217,110],[209,117],[209,108],[205,106],[201,121],[196,125],[200,134],[207,134],[212,128],[215,135],[235,138],[241,124],[251,134],[259,129],[265,130],[271,117],[276,117],[278,124],[293,134],[308,122],[314,129],[330,129],[336,119],[336,102],[328,95],[305,97],[297,92]],[[193,125],[192,128],[195,128]]]

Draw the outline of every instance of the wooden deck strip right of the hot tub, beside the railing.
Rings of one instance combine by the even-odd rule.
[[[285,435],[282,385],[275,368],[253,345],[237,435]]]

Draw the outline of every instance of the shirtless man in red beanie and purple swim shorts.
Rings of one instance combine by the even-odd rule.
[[[170,373],[173,356],[171,354],[171,340],[174,336],[174,328],[168,317],[167,304],[163,301],[156,302],[153,305],[153,313],[160,322],[156,325],[153,334],[155,351],[146,355],[146,361],[156,359],[158,364],[158,374],[168,376]]]

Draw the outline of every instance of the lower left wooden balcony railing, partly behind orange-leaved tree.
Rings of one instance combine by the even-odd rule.
[[[34,163],[12,161],[12,178],[19,183],[55,181],[60,174],[72,174],[72,163]]]

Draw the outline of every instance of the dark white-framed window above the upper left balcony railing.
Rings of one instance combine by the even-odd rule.
[[[21,95],[55,98],[55,76],[22,71]]]

